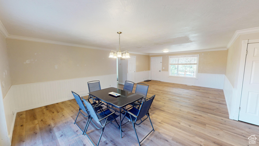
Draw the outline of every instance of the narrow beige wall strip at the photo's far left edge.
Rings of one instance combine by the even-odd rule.
[[[8,53],[6,47],[6,39],[0,33],[0,81],[3,98],[11,87],[11,77],[10,77],[10,69],[8,62]],[[3,88],[4,82],[4,88]]]

